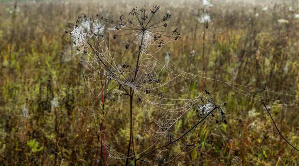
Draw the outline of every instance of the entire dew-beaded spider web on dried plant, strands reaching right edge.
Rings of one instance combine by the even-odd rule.
[[[136,30],[133,32],[136,35],[136,43],[138,44],[139,42],[143,42],[146,45],[141,48],[142,51],[140,54],[139,66],[135,67],[135,64],[127,63],[127,60],[130,57],[132,58],[132,54],[136,52],[129,55],[122,63],[118,63],[113,53],[109,51],[103,37],[101,35],[96,35],[91,30],[94,25],[90,25],[90,29],[84,27],[86,26],[84,25],[86,22],[92,23],[91,20],[86,20],[88,19],[84,18],[81,21],[76,22],[74,30],[70,33],[70,36],[73,38],[74,43],[78,46],[78,49],[81,52],[84,52],[88,57],[85,64],[93,73],[92,75],[87,76],[88,84],[95,85],[103,80],[105,84],[108,84],[113,81],[119,88],[114,89],[112,93],[117,93],[119,96],[128,93],[130,89],[134,90],[134,102],[139,106],[139,108],[134,109],[134,111],[141,111],[144,121],[143,126],[138,131],[134,131],[134,133],[138,133],[140,135],[140,139],[139,143],[135,143],[137,145],[135,150],[129,155],[124,152],[119,152],[117,147],[109,145],[109,143],[102,140],[105,145],[105,149],[111,158],[126,159],[141,155],[158,143],[160,139],[164,138],[174,124],[181,119],[186,112],[190,110],[197,110],[198,115],[204,115],[211,111],[217,104],[211,100],[206,93],[202,92],[196,96],[192,96],[194,94],[189,94],[191,85],[193,85],[198,78],[228,85],[229,87],[232,87],[233,90],[254,100],[274,104],[286,104],[288,102],[298,101],[298,96],[295,95],[197,76],[175,68],[170,63],[165,64],[155,58],[153,54],[147,53],[149,48],[148,44],[159,45],[159,42],[152,42],[150,34],[149,38],[151,40],[149,41],[148,38],[140,38],[138,36],[139,32]],[[125,27],[126,25],[123,25],[123,28]],[[97,48],[91,44],[91,38],[97,42]],[[257,95],[252,91],[245,91],[245,88],[267,93],[275,93],[282,96],[289,96],[295,99],[271,99]],[[94,95],[99,97],[100,93]],[[173,96],[176,96],[176,98]],[[151,140],[155,141],[151,144],[151,146],[147,147],[147,149],[140,149],[141,141],[144,138],[148,139],[149,137],[151,137]]]

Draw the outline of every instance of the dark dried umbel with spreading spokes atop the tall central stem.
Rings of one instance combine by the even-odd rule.
[[[141,9],[133,8],[129,13],[130,18],[125,18],[124,15],[120,16],[120,20],[118,21],[119,26],[116,27],[116,30],[128,30],[132,31],[122,35],[114,35],[113,38],[116,39],[118,36],[125,36],[134,34],[135,38],[131,40],[128,44],[126,44],[126,49],[129,48],[132,42],[139,45],[139,48],[142,52],[146,52],[149,45],[157,45],[161,47],[167,42],[167,38],[169,40],[179,39],[180,33],[175,28],[172,31],[166,30],[158,30],[157,28],[166,28],[167,23],[171,17],[169,13],[166,13],[159,21],[152,23],[155,14],[159,11],[159,6],[153,6],[150,9],[150,13],[148,15],[146,6]]]

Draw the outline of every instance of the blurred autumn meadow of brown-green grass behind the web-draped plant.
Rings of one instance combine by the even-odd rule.
[[[113,39],[119,34],[113,30],[119,17],[136,6],[158,5],[159,17],[170,13],[167,28],[178,28],[181,38],[154,56],[211,78],[195,78],[191,91],[180,90],[178,84],[169,94],[182,98],[186,92],[196,96],[208,90],[217,103],[227,103],[227,124],[210,118],[192,138],[203,141],[212,135],[213,140],[186,150],[183,139],[145,160],[161,166],[182,151],[168,165],[298,166],[299,153],[276,134],[261,102],[267,101],[281,133],[299,147],[298,0],[208,2],[210,6],[201,0],[0,0],[1,165],[125,165],[125,159],[103,154],[99,124],[105,124],[106,144],[126,154],[127,97],[108,96],[103,110],[101,98],[92,96],[86,83],[86,73],[93,74],[84,63],[88,58],[65,31],[72,31],[82,13],[107,18],[104,39],[118,61],[136,49],[125,48],[134,36]],[[101,84],[95,89],[101,90]],[[136,102],[133,107],[137,142],[143,118]],[[197,121],[195,110],[190,110],[169,133],[179,137]],[[169,141],[143,140],[137,153]]]

